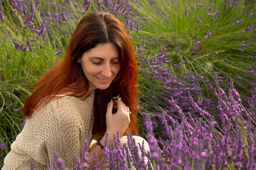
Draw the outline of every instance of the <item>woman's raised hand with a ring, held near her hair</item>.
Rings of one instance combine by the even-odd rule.
[[[106,113],[107,132],[113,136],[118,131],[119,135],[122,136],[130,123],[130,115],[127,111],[129,107],[122,100],[116,100],[115,102],[117,103],[117,112],[114,114],[112,114],[113,100],[111,99],[108,103]]]

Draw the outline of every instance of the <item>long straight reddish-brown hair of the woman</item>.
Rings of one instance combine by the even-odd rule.
[[[22,115],[31,117],[35,109],[48,103],[53,98],[52,95],[60,92],[72,92],[71,95],[75,97],[86,95],[89,83],[77,60],[97,45],[109,42],[118,48],[121,68],[107,89],[95,91],[93,134],[102,136],[106,132],[108,101],[118,94],[132,112],[127,130],[130,128],[133,134],[137,133],[138,66],[136,57],[123,23],[113,15],[104,12],[90,13],[81,19],[69,41],[64,59],[56,63],[30,87],[33,93],[25,101]]]

